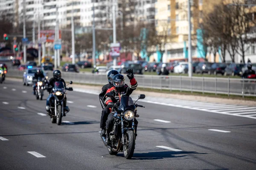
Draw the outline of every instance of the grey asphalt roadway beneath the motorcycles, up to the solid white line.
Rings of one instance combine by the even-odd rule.
[[[256,169],[256,119],[139,102],[145,108],[127,160],[109,155],[100,139],[98,96],[69,91],[60,126],[45,116],[46,97],[36,100],[21,82],[0,84],[1,170]]]

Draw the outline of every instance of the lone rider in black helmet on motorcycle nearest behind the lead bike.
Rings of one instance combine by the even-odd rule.
[[[59,71],[59,70],[53,71],[53,77],[51,79],[49,79],[49,81],[48,81],[49,89],[51,91],[51,93],[49,94],[49,96],[47,97],[47,100],[46,100],[46,111],[48,112],[48,114],[50,114],[50,106],[51,106],[52,101],[54,100],[54,97],[52,95],[52,92],[53,92],[52,88],[54,87],[55,82],[63,82],[64,87],[66,88],[66,82],[64,81],[64,79],[61,78],[61,71]],[[63,116],[66,116],[65,111],[69,110],[67,107],[67,98],[63,101],[63,107],[65,108]]]

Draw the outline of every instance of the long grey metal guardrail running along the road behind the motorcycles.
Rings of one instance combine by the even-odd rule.
[[[23,77],[23,71],[10,69],[6,77]],[[51,77],[51,75],[49,75]],[[92,73],[62,72],[66,81],[76,83],[105,85],[106,75]],[[256,96],[256,79],[233,79],[218,77],[153,76],[135,75],[140,88],[169,91],[190,91],[212,94]],[[128,79],[128,78],[127,78]],[[126,81],[128,82],[128,81]]]

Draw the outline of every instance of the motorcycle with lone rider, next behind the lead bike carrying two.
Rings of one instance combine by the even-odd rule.
[[[73,84],[72,81],[69,83]],[[69,85],[68,84],[68,85]],[[48,87],[45,89],[49,89]],[[63,82],[55,82],[54,87],[52,88],[54,103],[51,103],[50,111],[51,111],[51,120],[52,123],[57,123],[57,125],[61,125],[61,119],[63,113],[68,113],[69,109],[63,107],[63,102],[66,99],[66,91],[73,91],[73,88],[65,88]],[[64,112],[65,111],[65,112]]]

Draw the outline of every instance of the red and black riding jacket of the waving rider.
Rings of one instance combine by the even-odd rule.
[[[119,102],[119,98],[120,98],[119,95],[130,96],[132,94],[132,92],[134,90],[136,90],[137,85],[138,85],[138,83],[137,83],[136,79],[133,78],[130,80],[130,85],[125,84],[122,88],[119,88],[118,91],[116,90],[116,87],[109,88],[107,90],[106,94],[111,92],[111,93],[113,93],[114,97],[108,97],[105,95],[104,103],[106,105],[108,105],[109,102],[113,102],[113,103]]]

